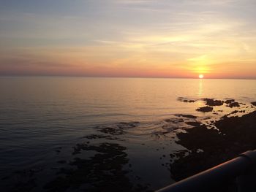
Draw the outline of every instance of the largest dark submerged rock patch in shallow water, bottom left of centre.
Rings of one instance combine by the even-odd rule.
[[[129,163],[126,147],[115,143],[102,143],[98,146],[78,144],[77,150],[97,152],[88,159],[74,158],[71,168],[62,168],[58,176],[45,185],[48,191],[72,191],[83,186],[85,191],[133,191],[127,176]]]

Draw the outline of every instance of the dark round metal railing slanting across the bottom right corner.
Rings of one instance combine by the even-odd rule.
[[[209,191],[211,188],[225,185],[232,179],[236,179],[239,192],[255,191],[256,180],[252,183],[247,179],[251,177],[250,174],[255,165],[256,150],[249,150],[224,164],[173,183],[157,192]]]

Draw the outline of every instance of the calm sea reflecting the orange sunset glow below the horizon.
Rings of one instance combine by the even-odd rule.
[[[120,183],[143,191],[174,182],[170,154],[186,150],[176,144],[176,131],[189,128],[180,115],[207,124],[233,111],[225,106],[196,111],[205,106],[204,98],[236,99],[249,109],[256,80],[0,77],[0,90],[2,189],[84,191],[118,169]],[[69,180],[54,189],[49,183],[56,177],[70,176],[63,170],[72,170],[78,180],[81,173],[74,170],[84,169],[78,158],[94,167],[85,169],[94,179],[74,185]],[[99,164],[115,166],[105,170]]]

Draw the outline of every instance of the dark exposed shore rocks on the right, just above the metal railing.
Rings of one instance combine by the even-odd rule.
[[[206,103],[210,103],[210,106],[226,103],[227,107],[230,107],[230,104],[232,107],[238,107],[234,100],[207,100]],[[252,105],[255,105],[255,102],[252,102]],[[186,147],[189,155],[181,153],[178,159],[170,164],[174,180],[182,180],[235,158],[246,150],[256,149],[256,111],[241,117],[224,115],[220,120],[213,122],[213,126],[215,128],[199,125],[177,134],[177,143]],[[229,188],[233,188],[232,185],[222,191],[229,191]]]

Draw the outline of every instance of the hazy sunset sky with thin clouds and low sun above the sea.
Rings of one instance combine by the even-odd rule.
[[[0,75],[256,79],[255,0],[0,0]]]

